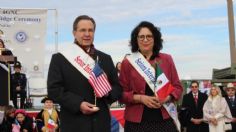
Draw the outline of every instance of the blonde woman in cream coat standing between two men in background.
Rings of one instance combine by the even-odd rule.
[[[224,132],[225,122],[231,122],[229,106],[218,86],[212,85],[207,101],[203,106],[203,118],[208,121],[209,132]]]

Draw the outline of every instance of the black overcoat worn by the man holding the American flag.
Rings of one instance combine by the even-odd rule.
[[[83,101],[95,103],[94,91],[88,79],[61,53],[52,56],[48,73],[48,96],[61,106],[62,132],[109,132],[111,130],[108,103],[118,100],[122,89],[111,56],[98,50],[95,50],[95,55],[99,58],[98,64],[106,73],[112,90],[108,96],[97,98],[96,103],[100,110],[91,115],[85,115],[80,111]]]

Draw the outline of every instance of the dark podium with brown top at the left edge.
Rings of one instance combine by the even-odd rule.
[[[16,60],[15,56],[0,55],[0,106],[9,105],[10,101],[10,64]]]

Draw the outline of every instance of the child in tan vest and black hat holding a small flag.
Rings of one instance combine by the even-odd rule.
[[[42,99],[41,103],[44,103],[44,108],[37,114],[36,117],[38,131],[59,131],[59,111],[53,107],[53,100],[45,97]]]

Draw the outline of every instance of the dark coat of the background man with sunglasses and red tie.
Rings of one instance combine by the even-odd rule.
[[[193,93],[190,92],[183,97],[182,107],[186,108],[189,112],[189,118],[186,120],[187,132],[208,132],[209,127],[206,123],[195,125],[191,122],[191,118],[202,119],[203,118],[203,105],[206,102],[208,96],[198,91],[197,105],[194,101]]]

